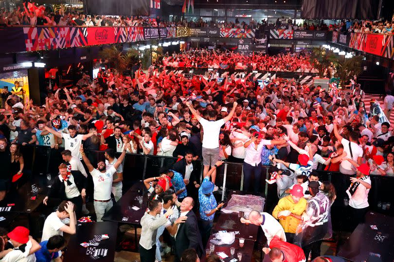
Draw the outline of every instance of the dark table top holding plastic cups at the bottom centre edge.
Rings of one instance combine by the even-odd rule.
[[[205,249],[209,249],[209,245],[210,245],[211,240],[213,238],[214,238],[214,236],[211,236],[209,238],[208,244],[207,244]],[[251,262],[252,255],[253,255],[253,246],[254,246],[254,242],[253,241],[245,239],[244,246],[243,247],[239,247],[239,239],[235,238],[235,241],[231,245],[215,245],[215,251],[214,252],[215,253],[216,252],[224,252],[224,253],[226,253],[226,255],[228,257],[223,260],[224,262],[229,262],[233,258],[235,258],[238,261],[237,253],[242,253],[242,260],[241,260],[241,262]],[[234,253],[233,256],[231,255],[231,252],[230,252],[230,248],[231,247],[235,247],[235,253]],[[204,252],[205,252],[205,250],[204,250]],[[201,262],[205,262],[206,261],[206,257],[202,256],[200,260],[201,260]]]

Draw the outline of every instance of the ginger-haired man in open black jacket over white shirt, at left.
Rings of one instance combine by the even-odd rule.
[[[87,179],[79,171],[71,170],[69,163],[62,163],[59,166],[59,175],[54,178],[48,196],[44,198],[47,205],[49,197],[59,198],[61,201],[71,201],[75,205],[77,218],[82,212],[82,197],[86,196]]]

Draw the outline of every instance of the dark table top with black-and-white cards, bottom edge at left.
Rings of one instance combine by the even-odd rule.
[[[63,262],[113,262],[115,259],[116,233],[118,223],[116,222],[96,222],[83,223],[76,228],[76,234],[70,237],[67,251],[64,255]],[[97,249],[108,249],[107,256],[99,257],[93,260],[86,254],[87,248],[80,245],[83,242],[89,242],[95,235],[107,234],[108,239],[101,240],[99,245],[94,246]]]

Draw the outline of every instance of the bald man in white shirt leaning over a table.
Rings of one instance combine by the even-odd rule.
[[[264,235],[267,238],[268,246],[274,236],[278,236],[280,240],[286,242],[285,230],[269,213],[260,213],[257,210],[252,210],[249,214],[249,219],[241,217],[241,223],[251,223],[253,225],[261,226],[264,231]]]

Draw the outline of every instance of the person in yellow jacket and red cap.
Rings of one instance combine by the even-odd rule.
[[[285,229],[287,242],[293,243],[296,229],[301,222],[301,215],[306,210],[304,189],[300,185],[294,185],[290,195],[279,199],[278,204],[272,211],[272,216],[279,219],[279,223]]]

